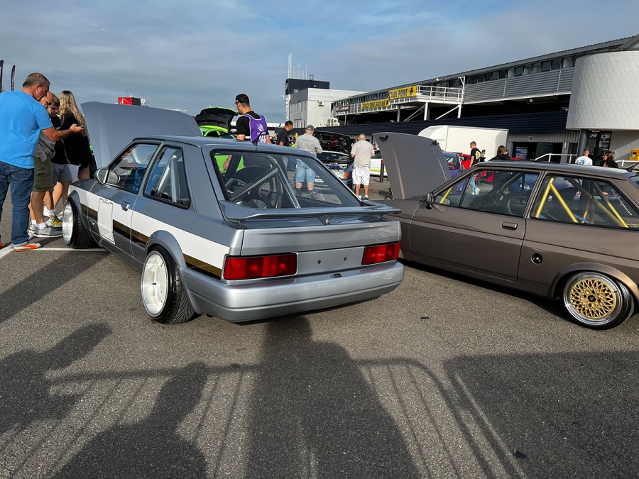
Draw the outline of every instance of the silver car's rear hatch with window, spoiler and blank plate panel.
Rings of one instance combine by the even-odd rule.
[[[227,148],[211,155],[231,158],[226,172],[212,172],[213,180],[224,182],[219,182],[224,218],[243,230],[241,245],[231,248],[231,255],[294,253],[300,262],[297,275],[307,275],[361,268],[366,246],[400,240],[399,224],[386,218],[398,210],[361,202],[315,155],[252,145],[253,151],[242,148],[240,155],[231,150],[236,145]],[[291,161],[297,170],[312,170],[315,189],[306,189],[306,181],[296,188],[300,182],[288,167]]]

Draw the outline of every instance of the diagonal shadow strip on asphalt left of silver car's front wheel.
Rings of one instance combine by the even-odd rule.
[[[11,255],[44,255],[46,253],[28,251],[11,253]],[[42,256],[42,267],[21,282],[0,293],[0,323],[18,314],[31,305],[26,298],[34,301],[57,290],[60,286],[73,280],[84,270],[91,268],[106,258],[102,253],[64,253],[55,263],[50,263]]]

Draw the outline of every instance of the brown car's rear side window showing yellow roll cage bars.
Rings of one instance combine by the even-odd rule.
[[[639,229],[639,213],[610,183],[548,175],[532,207],[532,218],[557,223]]]

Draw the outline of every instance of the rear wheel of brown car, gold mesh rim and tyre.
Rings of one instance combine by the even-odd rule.
[[[633,315],[635,302],[626,285],[600,272],[578,272],[567,280],[564,307],[579,324],[610,329]]]

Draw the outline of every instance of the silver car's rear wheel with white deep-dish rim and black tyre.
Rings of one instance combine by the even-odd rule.
[[[144,309],[158,323],[185,323],[195,316],[178,265],[162,246],[153,248],[144,261],[141,290]]]

